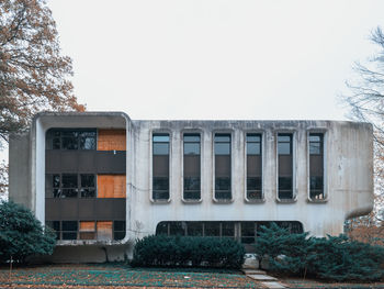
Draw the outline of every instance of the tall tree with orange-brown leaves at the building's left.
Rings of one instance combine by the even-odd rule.
[[[71,75],[71,59],[60,55],[46,2],[1,0],[0,148],[10,133],[26,130],[39,111],[84,110],[72,93]]]

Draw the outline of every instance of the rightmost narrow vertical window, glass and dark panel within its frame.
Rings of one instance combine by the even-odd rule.
[[[309,198],[324,197],[324,134],[309,133]]]

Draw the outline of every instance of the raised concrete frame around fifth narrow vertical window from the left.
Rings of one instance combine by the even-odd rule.
[[[279,134],[292,135],[292,199],[281,199],[279,197]],[[297,131],[296,129],[282,129],[274,132],[274,155],[275,155],[275,200],[279,203],[293,203],[297,201],[297,171],[296,171],[296,157],[297,157]]]

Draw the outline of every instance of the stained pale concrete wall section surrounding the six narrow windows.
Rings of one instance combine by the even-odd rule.
[[[182,200],[182,133],[202,135],[202,200]],[[325,184],[327,198],[308,198],[307,134],[325,133]],[[151,134],[169,132],[170,200],[151,200]],[[230,132],[233,140],[233,200],[214,200],[215,132]],[[245,135],[263,134],[263,194],[261,203],[246,201]],[[294,133],[293,202],[276,194],[276,134]],[[346,218],[369,213],[373,205],[372,127],[364,123],[328,121],[133,121],[134,173],[132,180],[131,237],[155,233],[160,221],[300,221],[316,236],[343,232]]]

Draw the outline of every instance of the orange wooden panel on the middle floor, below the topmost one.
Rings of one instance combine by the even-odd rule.
[[[125,175],[98,175],[98,198],[125,198]]]

